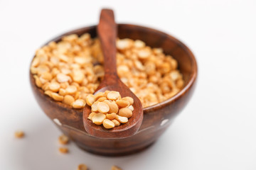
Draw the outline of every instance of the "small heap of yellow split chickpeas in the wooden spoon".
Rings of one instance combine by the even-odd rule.
[[[102,98],[101,101],[99,101],[100,98]],[[105,91],[104,93],[88,95],[85,101],[91,101],[92,113],[88,119],[96,125],[103,125],[106,129],[127,123],[134,110],[131,105],[134,103],[133,98],[129,96],[122,98],[118,91]]]

